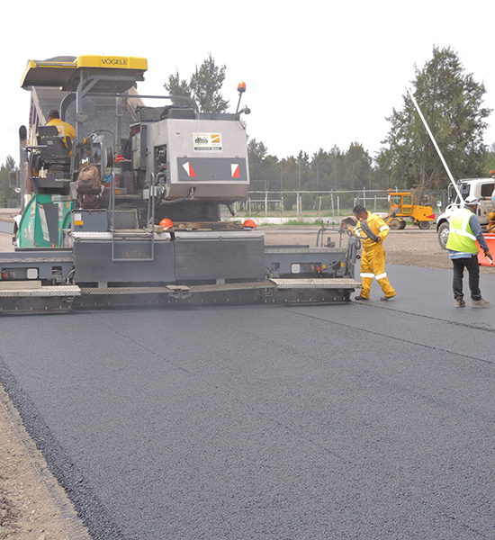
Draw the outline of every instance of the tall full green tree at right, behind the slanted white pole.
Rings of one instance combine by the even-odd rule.
[[[434,47],[433,58],[415,71],[415,98],[452,174],[456,178],[482,175],[484,119],[491,113],[482,107],[484,85],[464,73],[451,48]],[[388,171],[392,184],[420,190],[444,188],[449,181],[445,168],[410,96],[404,94],[403,100],[402,110],[393,109],[387,118],[392,128],[377,162]]]

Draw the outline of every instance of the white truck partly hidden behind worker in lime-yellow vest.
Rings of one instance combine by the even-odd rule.
[[[474,195],[480,201],[476,213],[482,228],[488,225],[488,214],[494,211],[495,180],[493,178],[465,178],[459,180],[457,185],[464,200],[469,195]],[[448,239],[450,217],[460,206],[459,196],[455,193],[452,185],[448,186],[448,200],[450,203],[446,207],[446,211],[437,216],[438,243],[444,249]]]

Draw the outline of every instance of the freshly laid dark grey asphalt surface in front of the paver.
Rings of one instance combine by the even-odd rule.
[[[387,271],[392,302],[3,318],[0,381],[95,540],[494,538],[495,308]]]

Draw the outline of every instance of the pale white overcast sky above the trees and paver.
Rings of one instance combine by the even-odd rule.
[[[7,1],[0,163],[19,158],[18,129],[29,112],[19,83],[28,59],[145,57],[139,93],[166,94],[168,75],[178,69],[189,79],[210,52],[227,67],[222,94],[230,110],[238,82],[246,82],[247,132],[270,154],[311,156],[358,142],[374,157],[390,130],[385,118],[402,108],[414,66],[422,68],[434,46],[455,50],[484,83],[484,106],[495,109],[492,11],[488,0]],[[495,142],[495,113],[489,123],[486,144]]]

